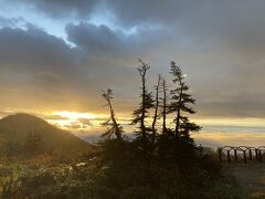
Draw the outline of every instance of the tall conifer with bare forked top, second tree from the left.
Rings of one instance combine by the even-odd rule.
[[[142,148],[144,150],[147,149],[147,139],[148,139],[148,133],[150,132],[150,128],[146,126],[146,118],[149,116],[149,109],[153,107],[153,100],[151,96],[151,93],[147,91],[147,86],[146,86],[146,74],[147,71],[150,69],[150,66],[142,62],[141,60],[139,60],[140,66],[138,67],[138,72],[141,78],[141,103],[140,103],[140,107],[134,111],[134,118],[131,121],[132,125],[139,124],[139,129],[140,129],[140,139],[142,143]]]

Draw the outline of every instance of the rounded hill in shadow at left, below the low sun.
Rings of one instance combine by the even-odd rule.
[[[2,156],[47,154],[71,159],[92,150],[88,143],[75,135],[29,114],[0,119],[0,148]]]

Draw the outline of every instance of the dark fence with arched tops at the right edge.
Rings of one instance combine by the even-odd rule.
[[[247,160],[256,160],[262,163],[265,155],[265,146],[248,147],[248,146],[224,146],[218,148],[219,160],[231,163],[243,160],[244,164]]]

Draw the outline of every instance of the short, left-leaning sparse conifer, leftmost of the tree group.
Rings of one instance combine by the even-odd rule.
[[[117,123],[117,119],[115,117],[115,112],[114,112],[114,107],[113,107],[113,104],[112,104],[112,100],[114,98],[114,95],[113,95],[113,91],[112,90],[107,90],[107,91],[104,91],[102,96],[104,97],[104,100],[107,102],[107,104],[105,106],[108,106],[109,108],[109,118],[103,123],[103,126],[106,126],[107,129],[106,129],[106,133],[103,134],[103,137],[112,137],[113,135],[116,136],[116,138],[118,140],[121,140],[123,139],[123,127]]]

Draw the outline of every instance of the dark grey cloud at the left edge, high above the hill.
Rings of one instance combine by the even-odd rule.
[[[0,69],[6,73],[33,73],[35,76],[32,77],[40,83],[74,73],[73,66],[77,62],[75,52],[64,41],[40,29],[3,28],[0,30]]]

